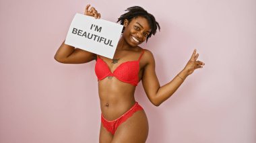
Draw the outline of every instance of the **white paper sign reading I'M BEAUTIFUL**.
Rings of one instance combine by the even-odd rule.
[[[65,44],[112,59],[122,30],[118,23],[76,13]]]

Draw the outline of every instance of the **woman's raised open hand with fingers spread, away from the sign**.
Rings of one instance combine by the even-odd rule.
[[[193,51],[193,54],[189,60],[189,62],[187,62],[187,65],[185,66],[184,70],[188,73],[188,75],[191,75],[195,69],[197,68],[203,68],[204,63],[197,60],[199,54],[197,53],[197,50],[195,49]]]

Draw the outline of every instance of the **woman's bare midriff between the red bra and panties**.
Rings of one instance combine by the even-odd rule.
[[[134,104],[135,86],[123,83],[116,77],[106,77],[98,81],[100,109],[106,120],[116,120]]]

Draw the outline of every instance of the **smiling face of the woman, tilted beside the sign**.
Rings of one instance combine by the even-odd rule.
[[[125,27],[123,37],[131,46],[143,43],[151,32],[148,20],[144,17],[135,17],[130,22],[125,19],[123,26]]]

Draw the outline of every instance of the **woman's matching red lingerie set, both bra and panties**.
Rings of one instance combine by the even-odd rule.
[[[141,59],[144,50],[142,49],[141,55],[138,60],[127,61],[121,63],[117,68],[113,71],[113,73],[108,68],[108,65],[104,60],[102,60],[99,56],[97,56],[96,64],[95,64],[95,73],[98,77],[98,81],[105,79],[106,77],[116,77],[119,81],[124,83],[130,83],[133,86],[137,86],[139,83],[139,60]],[[133,113],[136,111],[143,110],[143,108],[139,105],[139,103],[135,103],[133,107],[131,107],[128,111],[126,111],[123,115],[113,121],[106,120],[101,113],[101,122],[104,128],[108,130],[111,134],[115,134],[117,128],[125,122]]]

